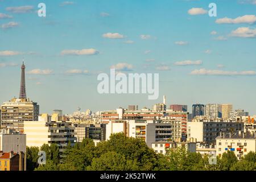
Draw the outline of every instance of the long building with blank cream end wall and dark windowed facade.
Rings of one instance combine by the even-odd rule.
[[[221,132],[243,131],[243,122],[199,120],[188,122],[188,137],[196,138],[197,142],[214,144]]]

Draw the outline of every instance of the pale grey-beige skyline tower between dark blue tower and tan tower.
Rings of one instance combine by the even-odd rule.
[[[204,107],[204,114],[205,116],[209,117],[210,119],[214,118],[221,118],[221,104],[207,104]]]

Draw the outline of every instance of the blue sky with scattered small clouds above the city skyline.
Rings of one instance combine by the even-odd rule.
[[[151,107],[166,95],[189,110],[230,103],[256,114],[255,15],[255,0],[0,0],[0,102],[18,97],[24,57],[27,96],[40,113]],[[159,99],[98,94],[97,75],[110,67],[159,73]]]

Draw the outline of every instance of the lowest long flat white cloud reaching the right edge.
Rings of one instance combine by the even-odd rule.
[[[191,72],[191,75],[222,75],[222,76],[246,76],[256,75],[255,71],[222,71],[222,70],[210,70],[210,69],[195,69]]]

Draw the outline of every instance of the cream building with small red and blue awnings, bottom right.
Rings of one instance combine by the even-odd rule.
[[[256,152],[256,133],[254,131],[221,133],[216,138],[216,153],[221,157],[227,151],[233,151],[238,160],[244,158],[250,151]]]

